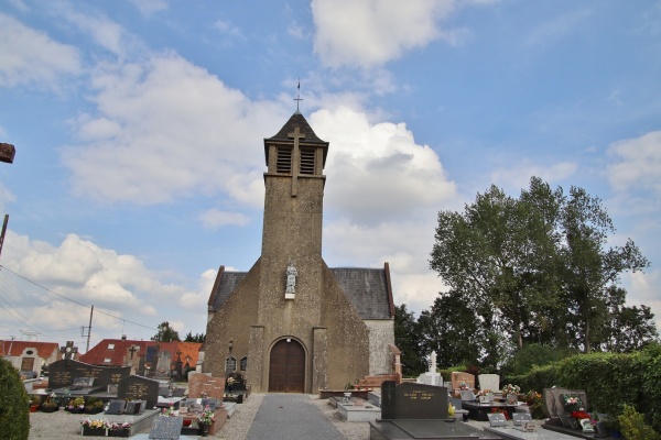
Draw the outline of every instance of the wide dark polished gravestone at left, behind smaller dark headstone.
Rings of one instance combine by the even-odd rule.
[[[79,377],[94,378],[94,385],[106,388],[129,377],[129,366],[97,366],[74,360],[56,361],[48,365],[48,387],[51,389],[68,388]]]

